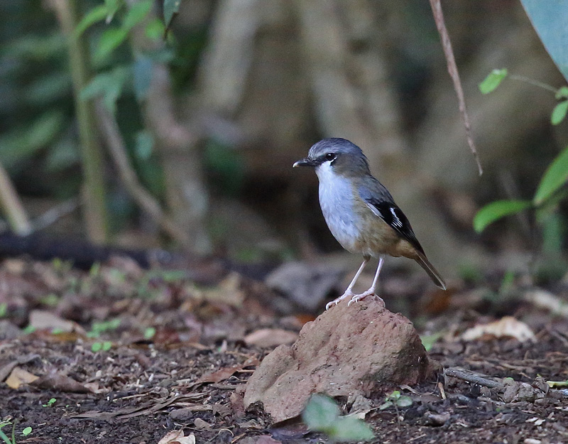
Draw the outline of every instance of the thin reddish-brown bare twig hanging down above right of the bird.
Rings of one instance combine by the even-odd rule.
[[[454,50],[452,50],[452,42],[449,40],[446,23],[444,23],[442,4],[440,4],[440,0],[430,0],[430,6],[432,6],[432,13],[434,14],[436,27],[438,28],[439,36],[442,39],[442,48],[444,49],[449,76],[452,77],[452,82],[454,82],[454,90],[456,91],[457,99],[459,102],[459,112],[461,113],[461,119],[464,120],[464,127],[466,129],[467,143],[469,144],[471,153],[474,155],[474,159],[477,163],[477,169],[479,170],[479,175],[482,175],[484,173],[484,170],[483,168],[481,168],[479,154],[477,153],[477,149],[475,147],[474,138],[471,135],[471,124],[469,123],[469,115],[467,114],[466,99],[464,97],[464,90],[461,87],[461,80],[459,80],[459,72],[457,70],[456,59],[454,58]]]

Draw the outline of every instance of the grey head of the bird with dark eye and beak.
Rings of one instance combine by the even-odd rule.
[[[294,166],[312,166],[316,168],[316,173],[321,168],[331,168],[334,173],[345,177],[370,174],[367,158],[361,148],[337,137],[314,144],[307,157],[294,163]]]

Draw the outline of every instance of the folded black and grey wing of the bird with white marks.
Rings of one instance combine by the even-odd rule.
[[[373,178],[372,182],[359,186],[359,195],[361,200],[366,203],[367,207],[376,216],[381,217],[400,237],[407,240],[417,251],[424,254],[424,249],[422,249],[420,242],[416,239],[408,218],[403,213],[403,210],[400,210],[395,204],[391,193],[388,193],[388,190],[382,183]]]

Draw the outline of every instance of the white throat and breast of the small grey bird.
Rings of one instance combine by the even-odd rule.
[[[315,170],[320,179],[320,206],[325,222],[344,249],[354,251],[359,237],[359,217],[354,212],[354,188],[349,179],[334,172],[331,162]]]

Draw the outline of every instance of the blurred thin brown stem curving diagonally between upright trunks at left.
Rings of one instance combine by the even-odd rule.
[[[97,117],[99,117],[102,135],[107,141],[112,160],[119,170],[120,178],[126,190],[129,191],[136,203],[138,203],[166,233],[180,242],[180,244],[187,247],[189,243],[187,234],[178,227],[168,215],[165,215],[158,201],[155,200],[153,195],[148,193],[148,190],[143,188],[138,181],[136,173],[130,166],[129,158],[126,155],[124,139],[122,138],[119,125],[116,123],[114,116],[104,107],[100,99],[95,102],[95,109]]]

